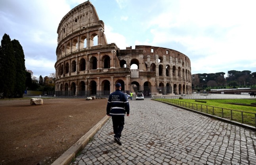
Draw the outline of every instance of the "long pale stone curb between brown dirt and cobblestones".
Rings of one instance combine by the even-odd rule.
[[[88,144],[90,137],[93,137],[97,131],[109,120],[109,116],[105,116],[86,134],[84,134],[75,144],[73,144],[66,152],[58,157],[51,165],[69,165],[76,154]]]

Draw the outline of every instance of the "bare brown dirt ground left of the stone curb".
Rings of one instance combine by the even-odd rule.
[[[50,165],[106,115],[107,99],[0,100],[0,165]]]

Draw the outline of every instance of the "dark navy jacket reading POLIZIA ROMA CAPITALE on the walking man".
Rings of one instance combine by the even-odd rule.
[[[126,95],[120,90],[109,95],[109,100],[107,101],[107,115],[125,115],[130,114],[130,106]]]

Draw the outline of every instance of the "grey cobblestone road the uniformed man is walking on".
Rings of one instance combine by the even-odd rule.
[[[145,99],[129,100],[119,146],[111,118],[73,164],[256,165],[256,132]]]

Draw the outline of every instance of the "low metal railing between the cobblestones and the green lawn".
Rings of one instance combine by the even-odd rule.
[[[164,103],[169,103],[173,105],[178,105],[180,107],[185,107],[187,109],[192,109],[195,111],[200,111],[206,114],[211,114],[213,116],[218,116],[221,118],[233,120],[242,124],[249,126],[256,126],[256,113],[238,111],[233,109],[225,109],[221,107],[213,107],[209,105],[202,105],[197,103],[188,103],[185,101],[168,99],[163,97],[153,97],[154,100],[161,101]]]

